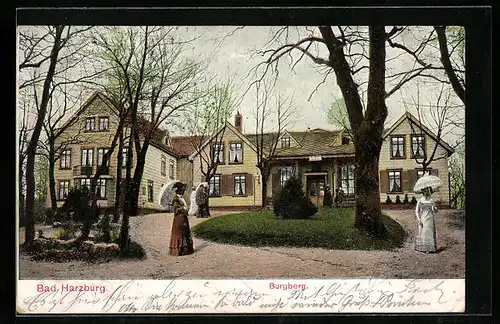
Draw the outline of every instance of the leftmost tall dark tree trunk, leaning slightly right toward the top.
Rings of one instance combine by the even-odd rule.
[[[49,68],[43,84],[42,100],[39,105],[37,120],[28,143],[26,155],[26,227],[24,246],[27,251],[31,251],[33,249],[33,240],[35,239],[35,153],[43,121],[45,120],[45,115],[47,114],[47,105],[50,99],[50,85],[54,78],[61,46],[61,35],[64,30],[63,26],[56,26],[55,28],[56,32],[54,45],[52,46],[52,51],[50,53]]]

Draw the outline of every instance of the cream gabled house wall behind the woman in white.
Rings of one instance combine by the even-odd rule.
[[[415,129],[416,126],[414,126]],[[419,132],[419,130],[417,130]],[[408,171],[408,170],[415,170],[415,169],[421,169],[422,165],[418,164],[415,159],[411,158],[411,134],[412,134],[412,128],[410,126],[410,123],[408,122],[408,119],[404,120],[394,131],[387,136],[387,138],[384,140],[382,144],[382,149],[380,151],[380,159],[379,159],[379,169],[381,171],[384,170],[403,170],[403,171]],[[425,134],[425,133],[424,133]],[[391,159],[391,150],[390,150],[390,141],[391,141],[391,135],[404,135],[405,136],[405,153],[406,157],[404,159]],[[426,146],[426,152],[428,155],[432,154],[432,151],[434,150],[435,146],[435,141],[425,134],[425,146]],[[438,145],[436,153],[434,155],[435,158],[439,158],[441,156],[445,156],[447,154],[446,150],[441,146]],[[421,161],[419,159],[418,161]],[[428,166],[430,169],[437,169],[437,176],[443,181],[443,186],[432,195],[432,198],[436,200],[436,202],[443,203],[443,204],[449,204],[449,178],[448,178],[448,159],[443,158],[443,159],[438,159],[436,161],[432,161],[430,165]],[[383,175],[385,177],[385,173]],[[405,180],[405,179],[403,179]],[[381,180],[382,182],[385,180]],[[404,194],[408,194],[408,198],[411,199],[412,196],[415,196],[415,198],[420,198],[421,194],[413,192],[413,184],[409,184],[411,187],[410,190],[404,191],[403,193],[398,193],[398,194],[388,194],[387,192],[384,192],[384,189],[381,186],[381,193],[380,193],[380,200],[382,202],[385,202],[387,199],[387,196],[391,198],[391,200],[394,202],[396,199],[396,195],[400,196],[400,199],[403,200]]]

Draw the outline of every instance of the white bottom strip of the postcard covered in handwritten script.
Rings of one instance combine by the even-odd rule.
[[[92,281],[102,291],[67,291],[68,283],[19,280],[20,313],[336,313],[463,312],[463,279],[296,279]],[[282,280],[290,282],[291,280]],[[37,285],[53,287],[37,291]],[[287,286],[288,285],[288,286]],[[280,287],[280,289],[270,289]],[[286,289],[301,287],[300,289]]]

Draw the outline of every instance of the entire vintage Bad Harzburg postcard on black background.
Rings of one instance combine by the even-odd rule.
[[[19,25],[18,314],[464,312],[465,43]]]

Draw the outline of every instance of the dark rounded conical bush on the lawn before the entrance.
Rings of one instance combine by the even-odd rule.
[[[291,177],[273,201],[273,212],[283,219],[307,219],[316,214],[318,208],[306,197],[300,180]]]

